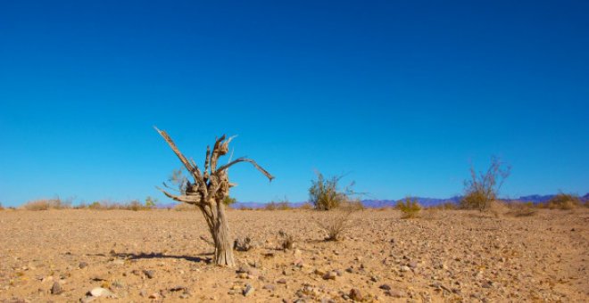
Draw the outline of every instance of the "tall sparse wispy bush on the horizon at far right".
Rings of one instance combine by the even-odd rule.
[[[460,201],[462,209],[487,210],[492,201],[497,200],[499,190],[505,179],[510,176],[510,167],[499,158],[491,159],[491,166],[486,172],[475,171],[470,167],[470,179],[464,182],[464,196]]]

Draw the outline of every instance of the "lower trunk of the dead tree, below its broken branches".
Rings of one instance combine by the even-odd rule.
[[[217,222],[215,223],[215,264],[219,266],[236,265],[233,258],[233,243],[229,238],[229,225],[225,217],[225,205],[223,202],[217,203]]]

